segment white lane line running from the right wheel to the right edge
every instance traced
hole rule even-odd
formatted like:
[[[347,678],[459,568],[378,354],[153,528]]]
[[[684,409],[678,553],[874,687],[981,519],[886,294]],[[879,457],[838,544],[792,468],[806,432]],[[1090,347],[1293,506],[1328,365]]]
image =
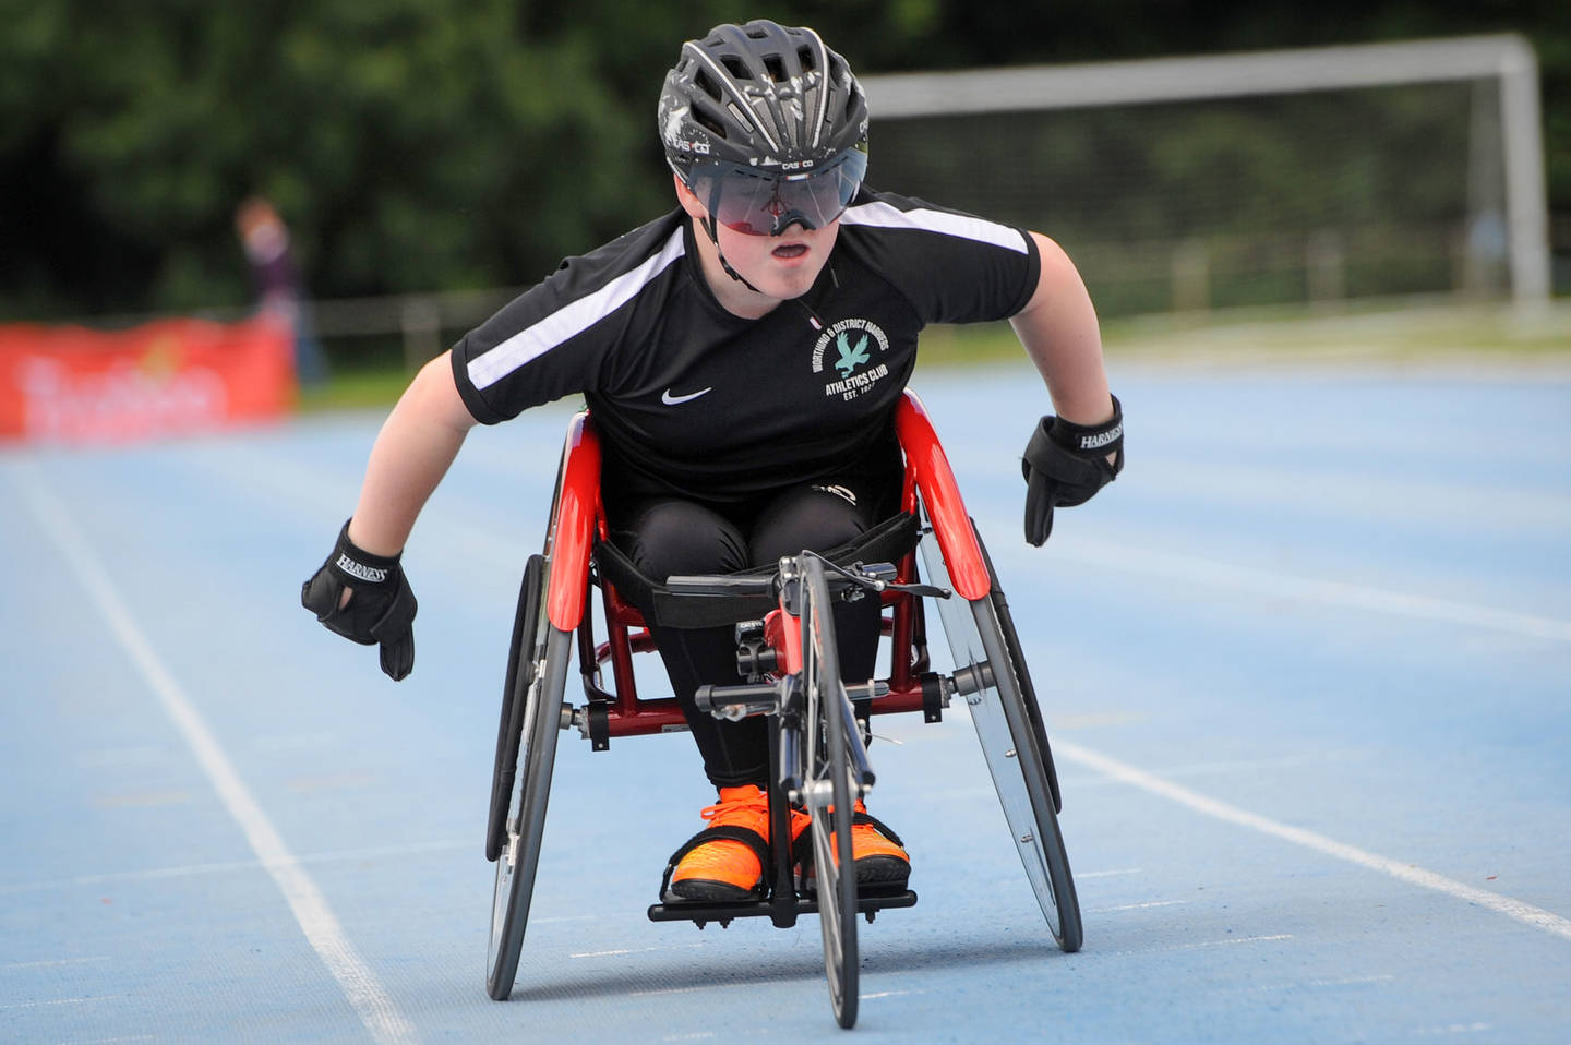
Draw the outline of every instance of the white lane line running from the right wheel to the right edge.
[[[1543,929],[1544,932],[1563,940],[1571,940],[1571,919],[1541,910],[1532,904],[1524,904],[1521,900],[1513,900],[1508,896],[1500,896],[1499,893],[1464,885],[1455,878],[1447,878],[1434,874],[1433,871],[1425,871],[1423,867],[1417,867],[1414,864],[1390,860],[1389,856],[1381,856],[1378,853],[1338,842],[1326,838],[1324,834],[1288,827],[1287,823],[1279,823],[1255,812],[1240,809],[1238,806],[1230,806],[1225,801],[1218,801],[1216,798],[1207,798],[1205,795],[1189,790],[1188,787],[1174,784],[1161,776],[1153,776],[1152,773],[1137,770],[1133,765],[1125,765],[1123,762],[1111,759],[1100,751],[1082,748],[1078,743],[1054,740],[1053,750],[1062,751],[1064,757],[1079,762],[1081,765],[1089,765],[1126,784],[1161,795],[1163,798],[1169,798],[1178,805],[1189,806],[1196,812],[1203,812],[1205,816],[1225,820],[1227,823],[1236,823],[1238,827],[1247,827],[1263,834],[1271,834],[1274,838],[1280,838],[1282,841],[1293,842],[1295,845],[1312,849],[1326,856],[1335,856],[1337,860],[1368,867],[1370,871],[1389,874],[1390,877],[1409,885],[1434,889],[1436,893],[1445,893],[1447,896],[1466,900],[1467,904],[1477,904],[1478,907],[1488,908],[1497,915],[1505,915],[1507,918],[1516,919],[1524,926]]]

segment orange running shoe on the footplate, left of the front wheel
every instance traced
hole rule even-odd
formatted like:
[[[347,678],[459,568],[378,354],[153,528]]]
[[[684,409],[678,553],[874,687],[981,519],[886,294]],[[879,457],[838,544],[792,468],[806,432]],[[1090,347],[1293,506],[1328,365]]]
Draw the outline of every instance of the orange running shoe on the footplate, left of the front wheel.
[[[754,784],[721,787],[720,801],[699,814],[709,827],[671,853],[660,897],[680,900],[753,900],[768,886],[770,798]],[[792,809],[792,838],[801,834],[807,814]]]

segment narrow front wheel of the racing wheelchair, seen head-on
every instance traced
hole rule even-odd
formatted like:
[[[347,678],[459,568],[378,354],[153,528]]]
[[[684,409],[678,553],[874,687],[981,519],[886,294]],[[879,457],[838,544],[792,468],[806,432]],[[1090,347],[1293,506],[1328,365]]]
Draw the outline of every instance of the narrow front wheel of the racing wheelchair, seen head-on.
[[[823,564],[804,556],[801,607],[801,680],[807,709],[800,746],[807,811],[812,814],[812,861],[817,878],[818,926],[829,1004],[842,1028],[856,1023],[856,871],[851,867],[851,759],[845,729],[845,685],[840,682],[834,616]],[[833,816],[831,816],[833,811]],[[836,860],[839,853],[840,860]]]

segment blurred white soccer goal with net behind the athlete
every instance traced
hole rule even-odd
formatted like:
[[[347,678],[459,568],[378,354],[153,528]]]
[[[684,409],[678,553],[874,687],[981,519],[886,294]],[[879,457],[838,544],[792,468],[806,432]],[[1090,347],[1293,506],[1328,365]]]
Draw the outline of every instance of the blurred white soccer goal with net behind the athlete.
[[[862,83],[875,185],[1054,236],[1112,311],[1551,294],[1516,35]]]

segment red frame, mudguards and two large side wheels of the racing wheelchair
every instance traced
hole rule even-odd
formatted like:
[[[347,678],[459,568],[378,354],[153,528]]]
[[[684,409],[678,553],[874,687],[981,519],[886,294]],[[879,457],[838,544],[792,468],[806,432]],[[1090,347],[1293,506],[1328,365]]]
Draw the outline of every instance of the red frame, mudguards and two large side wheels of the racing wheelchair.
[[[927,583],[952,589],[954,596],[939,602],[939,611],[955,654],[955,671],[930,669],[924,600],[911,592],[886,591],[881,596],[888,610],[883,632],[894,651],[889,676],[875,684],[875,698],[856,701],[858,715],[919,710],[927,721],[938,721],[952,696],[965,698],[1038,905],[1059,946],[1076,951],[1082,932],[1057,828],[1062,800],[1009,605],[966,514],[947,456],[914,393],[906,391],[897,404],[894,427],[905,454],[900,508],[925,523],[919,548],[902,548],[894,563],[895,581],[919,583],[921,550]],[[600,442],[589,415],[581,412],[569,424],[545,555],[534,556],[525,570],[509,655],[487,833],[487,858],[498,863],[487,962],[487,987],[496,999],[507,998],[517,971],[555,734],[577,728],[595,750],[605,750],[613,737],[687,728],[676,698],[638,696],[633,654],[654,652],[654,640],[644,613],[616,591],[605,570],[595,569],[597,541],[608,541],[600,500]],[[594,635],[591,586],[602,592],[603,641]],[[561,699],[573,646],[588,698],[580,707]],[[603,666],[610,666],[611,688],[602,685]],[[525,768],[518,768],[520,762]],[[905,896],[908,900],[888,905],[916,900],[914,894]],[[798,908],[793,902],[790,897],[775,905],[776,924],[790,924],[798,910],[815,910],[811,905]],[[869,916],[877,907],[866,908]],[[657,905],[650,918],[691,918],[701,927],[710,918],[729,921],[727,913],[694,911],[687,913],[687,905]]]

